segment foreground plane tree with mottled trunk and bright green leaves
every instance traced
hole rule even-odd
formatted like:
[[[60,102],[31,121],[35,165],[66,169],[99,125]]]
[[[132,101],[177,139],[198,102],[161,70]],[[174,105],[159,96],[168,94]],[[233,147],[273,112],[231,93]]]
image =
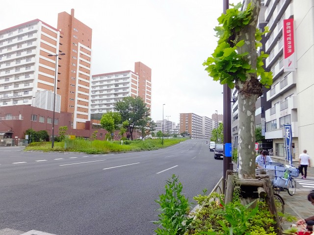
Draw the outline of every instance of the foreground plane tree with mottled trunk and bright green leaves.
[[[254,179],[255,103],[262,95],[262,86],[272,84],[272,73],[262,67],[268,55],[257,53],[262,34],[268,32],[267,28],[264,32],[257,29],[261,0],[246,3],[243,10],[239,10],[239,3],[218,18],[218,45],[203,65],[214,81],[238,90],[239,177]]]

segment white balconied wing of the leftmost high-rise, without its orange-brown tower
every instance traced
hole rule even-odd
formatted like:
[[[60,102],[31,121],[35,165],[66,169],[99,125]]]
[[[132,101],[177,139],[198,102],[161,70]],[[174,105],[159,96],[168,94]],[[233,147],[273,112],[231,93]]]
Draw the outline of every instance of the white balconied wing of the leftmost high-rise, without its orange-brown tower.
[[[39,20],[0,31],[0,106],[32,105],[37,91],[53,91],[55,57],[48,54],[59,44],[60,32]]]

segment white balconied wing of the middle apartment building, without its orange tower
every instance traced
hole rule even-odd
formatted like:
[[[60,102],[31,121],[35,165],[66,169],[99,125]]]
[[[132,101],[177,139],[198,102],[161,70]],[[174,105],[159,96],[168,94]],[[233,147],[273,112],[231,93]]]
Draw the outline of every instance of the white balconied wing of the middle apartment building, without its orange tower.
[[[138,95],[138,75],[132,71],[103,73],[92,76],[91,114],[114,112],[114,104],[126,96]]]

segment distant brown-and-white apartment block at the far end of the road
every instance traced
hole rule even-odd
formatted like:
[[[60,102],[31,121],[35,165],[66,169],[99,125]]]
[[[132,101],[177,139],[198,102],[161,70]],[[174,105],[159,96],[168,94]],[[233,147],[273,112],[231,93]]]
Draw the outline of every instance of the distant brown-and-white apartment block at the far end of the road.
[[[205,128],[208,129],[210,125],[208,118],[206,118]],[[193,113],[180,114],[180,133],[187,132],[192,139],[207,139],[203,134],[203,117]]]

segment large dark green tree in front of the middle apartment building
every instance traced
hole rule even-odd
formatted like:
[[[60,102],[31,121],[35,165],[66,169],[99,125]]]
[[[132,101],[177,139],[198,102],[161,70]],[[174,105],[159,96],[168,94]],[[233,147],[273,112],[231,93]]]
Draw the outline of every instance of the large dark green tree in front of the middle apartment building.
[[[114,104],[114,108],[120,113],[123,121],[129,121],[126,126],[127,138],[133,140],[134,127],[139,126],[141,120],[149,116],[150,109],[146,107],[143,99],[139,96],[124,97],[121,101]]]

